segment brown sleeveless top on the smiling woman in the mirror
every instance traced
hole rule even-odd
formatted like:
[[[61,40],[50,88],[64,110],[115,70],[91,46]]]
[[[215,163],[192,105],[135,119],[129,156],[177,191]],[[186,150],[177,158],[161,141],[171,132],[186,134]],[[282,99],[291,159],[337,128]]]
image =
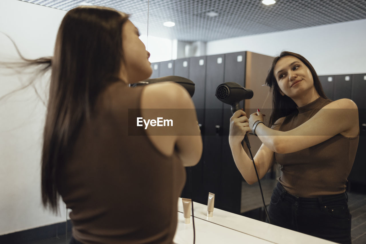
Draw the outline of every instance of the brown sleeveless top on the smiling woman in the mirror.
[[[281,125],[272,128],[280,131],[294,129],[330,102],[319,97],[310,104],[298,107]],[[344,192],[355,160],[358,139],[359,136],[347,138],[338,134],[294,153],[275,153],[276,161],[282,166],[279,182],[290,194],[304,198]]]

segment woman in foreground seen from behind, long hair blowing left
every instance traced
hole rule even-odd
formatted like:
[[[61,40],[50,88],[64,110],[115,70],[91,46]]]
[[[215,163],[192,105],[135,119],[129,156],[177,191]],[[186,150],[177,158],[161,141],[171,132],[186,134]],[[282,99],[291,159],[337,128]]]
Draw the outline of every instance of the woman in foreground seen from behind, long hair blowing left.
[[[64,16],[54,56],[27,60],[52,68],[42,202],[57,212],[61,196],[72,210],[71,243],[172,243],[202,140],[182,86],[129,86],[152,74],[149,56],[127,14],[81,6]],[[174,126],[137,126],[152,117]]]

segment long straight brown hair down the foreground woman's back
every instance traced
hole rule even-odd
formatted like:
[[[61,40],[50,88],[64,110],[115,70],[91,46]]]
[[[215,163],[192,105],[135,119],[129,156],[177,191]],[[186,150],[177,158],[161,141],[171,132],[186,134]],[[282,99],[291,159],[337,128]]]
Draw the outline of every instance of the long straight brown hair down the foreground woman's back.
[[[59,27],[44,127],[42,203],[57,212],[59,169],[88,120],[98,94],[119,81],[123,64],[122,26],[128,15],[111,8],[81,6]]]

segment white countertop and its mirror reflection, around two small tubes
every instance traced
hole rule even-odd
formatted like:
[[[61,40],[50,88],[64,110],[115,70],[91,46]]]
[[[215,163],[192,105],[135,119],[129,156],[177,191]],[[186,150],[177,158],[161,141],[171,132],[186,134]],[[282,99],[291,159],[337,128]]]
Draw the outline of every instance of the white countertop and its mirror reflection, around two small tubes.
[[[330,244],[331,241],[214,208],[207,217],[207,205],[193,202],[196,243]],[[213,242],[209,242],[212,240]],[[193,243],[192,217],[184,224],[182,198],[178,200],[177,244]]]

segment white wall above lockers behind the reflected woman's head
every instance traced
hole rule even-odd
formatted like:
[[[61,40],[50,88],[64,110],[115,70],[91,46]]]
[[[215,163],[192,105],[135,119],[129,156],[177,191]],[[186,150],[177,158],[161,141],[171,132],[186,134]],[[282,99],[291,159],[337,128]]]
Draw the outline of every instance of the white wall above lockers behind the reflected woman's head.
[[[210,41],[207,55],[251,51],[299,53],[318,75],[366,73],[366,20]]]

